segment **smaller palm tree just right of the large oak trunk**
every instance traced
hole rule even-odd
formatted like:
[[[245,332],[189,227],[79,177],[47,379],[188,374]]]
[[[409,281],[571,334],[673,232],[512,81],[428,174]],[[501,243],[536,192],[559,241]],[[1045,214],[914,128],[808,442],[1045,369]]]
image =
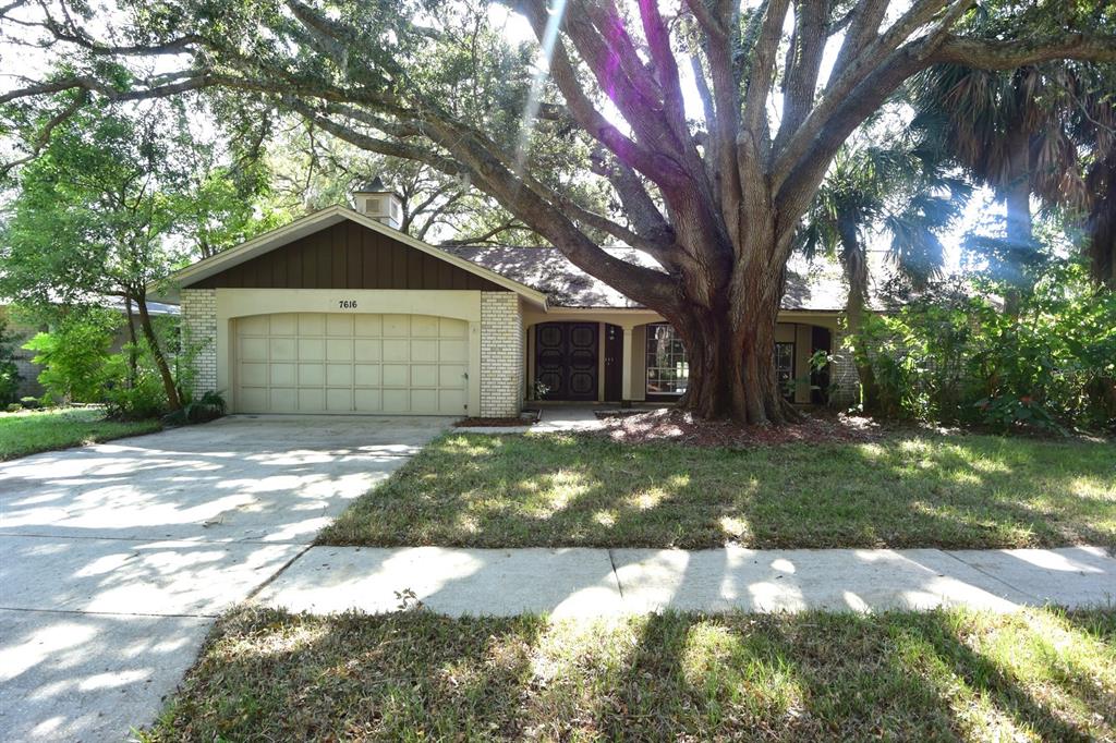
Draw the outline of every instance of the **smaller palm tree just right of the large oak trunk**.
[[[846,326],[864,329],[870,282],[868,244],[876,231],[891,235],[887,255],[914,288],[941,272],[944,248],[937,232],[963,211],[971,187],[949,176],[925,143],[899,139],[887,148],[848,145],[838,153],[797,234],[807,258],[836,259],[848,284]],[[858,355],[865,409],[878,398],[872,367]]]

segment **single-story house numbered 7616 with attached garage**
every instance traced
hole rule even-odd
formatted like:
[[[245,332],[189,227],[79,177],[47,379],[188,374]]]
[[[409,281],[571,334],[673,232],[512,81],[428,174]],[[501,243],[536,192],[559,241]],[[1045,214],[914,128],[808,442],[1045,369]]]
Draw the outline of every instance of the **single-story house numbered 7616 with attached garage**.
[[[617,403],[685,390],[673,328],[558,251],[435,248],[396,229],[398,199],[378,184],[355,202],[172,277],[158,298],[181,302],[183,331],[202,347],[199,392],[222,390],[238,413],[501,417],[543,390]],[[776,364],[796,403],[826,386],[810,384],[808,361],[840,347],[843,306],[839,279],[789,281]],[[845,356],[830,374],[852,390]]]

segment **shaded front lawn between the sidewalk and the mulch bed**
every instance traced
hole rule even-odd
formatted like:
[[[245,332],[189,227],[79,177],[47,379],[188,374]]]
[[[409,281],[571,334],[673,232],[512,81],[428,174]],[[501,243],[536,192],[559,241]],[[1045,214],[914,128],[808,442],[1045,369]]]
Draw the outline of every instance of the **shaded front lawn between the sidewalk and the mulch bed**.
[[[448,434],[319,535],[462,547],[1116,544],[1116,445],[896,435],[733,451]]]

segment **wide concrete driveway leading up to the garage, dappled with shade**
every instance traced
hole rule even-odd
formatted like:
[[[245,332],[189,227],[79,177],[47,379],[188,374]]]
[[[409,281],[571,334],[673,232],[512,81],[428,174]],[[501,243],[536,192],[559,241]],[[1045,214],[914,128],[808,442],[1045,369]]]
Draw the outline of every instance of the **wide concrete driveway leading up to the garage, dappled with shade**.
[[[0,463],[0,740],[115,741],[449,418],[231,416]]]

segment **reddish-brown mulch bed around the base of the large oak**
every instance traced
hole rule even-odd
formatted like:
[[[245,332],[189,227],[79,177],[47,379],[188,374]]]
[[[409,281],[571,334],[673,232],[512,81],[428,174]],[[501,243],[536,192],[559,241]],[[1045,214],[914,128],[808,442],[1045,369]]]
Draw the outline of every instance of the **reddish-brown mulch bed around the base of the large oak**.
[[[815,413],[785,426],[744,426],[731,421],[699,421],[671,408],[625,413],[605,418],[589,435],[626,444],[674,442],[694,446],[772,446],[779,444],[862,443],[877,441],[886,431],[872,418]]]

